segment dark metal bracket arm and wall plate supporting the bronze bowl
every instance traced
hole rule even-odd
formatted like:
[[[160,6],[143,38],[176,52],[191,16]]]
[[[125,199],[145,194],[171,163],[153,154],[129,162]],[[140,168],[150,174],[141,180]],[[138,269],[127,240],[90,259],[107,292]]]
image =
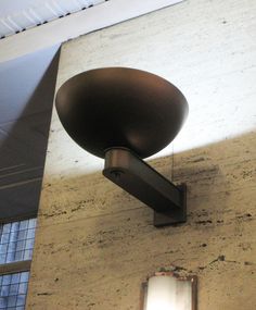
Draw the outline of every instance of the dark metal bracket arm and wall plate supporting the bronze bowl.
[[[156,227],[187,221],[185,185],[174,185],[130,150],[106,150],[103,175],[154,209]]]

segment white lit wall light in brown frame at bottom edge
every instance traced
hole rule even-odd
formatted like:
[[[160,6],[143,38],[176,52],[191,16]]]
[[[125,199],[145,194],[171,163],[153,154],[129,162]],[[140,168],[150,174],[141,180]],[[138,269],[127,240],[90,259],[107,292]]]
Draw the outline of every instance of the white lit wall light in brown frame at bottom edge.
[[[158,272],[142,284],[141,310],[196,310],[196,276]]]

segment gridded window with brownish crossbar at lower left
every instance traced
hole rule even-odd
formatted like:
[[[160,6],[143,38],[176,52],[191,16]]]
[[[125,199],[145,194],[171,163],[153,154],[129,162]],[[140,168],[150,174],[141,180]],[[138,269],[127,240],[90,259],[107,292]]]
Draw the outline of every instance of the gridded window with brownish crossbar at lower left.
[[[0,310],[24,310],[36,219],[0,224]]]

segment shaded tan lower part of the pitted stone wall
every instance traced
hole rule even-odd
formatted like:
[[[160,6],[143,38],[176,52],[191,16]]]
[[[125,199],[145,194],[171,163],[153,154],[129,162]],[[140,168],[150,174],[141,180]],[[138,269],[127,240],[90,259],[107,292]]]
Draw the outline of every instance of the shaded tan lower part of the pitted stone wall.
[[[136,309],[146,275],[175,265],[178,273],[200,275],[200,309],[253,309],[255,139],[248,133],[177,153],[174,171],[170,157],[150,161],[188,185],[188,222],[175,227],[155,228],[152,210],[100,172],[46,183],[33,305]],[[245,281],[248,289],[241,296]]]

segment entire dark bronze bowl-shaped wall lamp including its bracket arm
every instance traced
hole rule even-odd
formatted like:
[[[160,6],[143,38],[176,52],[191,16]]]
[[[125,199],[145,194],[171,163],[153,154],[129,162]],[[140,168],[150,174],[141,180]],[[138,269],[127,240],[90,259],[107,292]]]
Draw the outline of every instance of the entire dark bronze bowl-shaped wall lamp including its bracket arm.
[[[180,131],[189,108],[178,88],[140,70],[97,69],[64,83],[56,110],[69,136],[105,159],[104,176],[154,209],[155,226],[185,222],[185,186],[142,160]]]

